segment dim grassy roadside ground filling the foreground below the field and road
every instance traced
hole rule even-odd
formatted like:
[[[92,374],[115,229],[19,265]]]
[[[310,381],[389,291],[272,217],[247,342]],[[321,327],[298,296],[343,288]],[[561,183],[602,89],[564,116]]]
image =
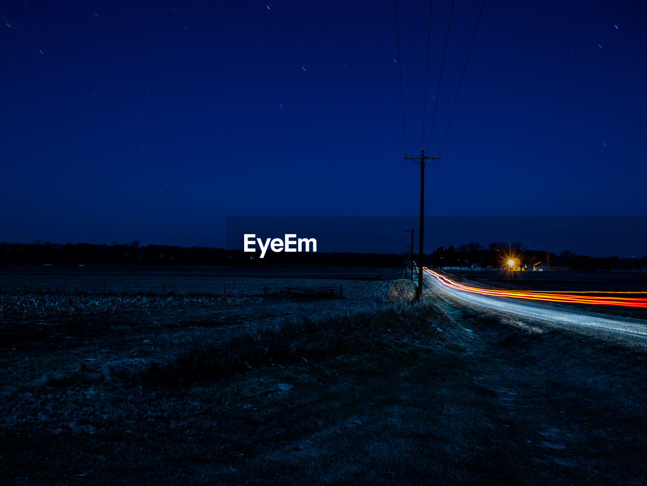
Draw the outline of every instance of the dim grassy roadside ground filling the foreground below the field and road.
[[[433,305],[3,397],[8,484],[639,484],[644,351]]]

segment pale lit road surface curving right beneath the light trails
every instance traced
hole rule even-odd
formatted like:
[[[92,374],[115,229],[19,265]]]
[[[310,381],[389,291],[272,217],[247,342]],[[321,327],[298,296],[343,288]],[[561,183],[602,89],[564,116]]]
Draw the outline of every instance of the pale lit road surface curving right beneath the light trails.
[[[647,344],[647,322],[642,320],[560,309],[547,304],[535,304],[523,300],[454,289],[428,271],[424,272],[424,281],[435,293],[451,296],[469,304],[515,314],[531,320],[593,331]]]

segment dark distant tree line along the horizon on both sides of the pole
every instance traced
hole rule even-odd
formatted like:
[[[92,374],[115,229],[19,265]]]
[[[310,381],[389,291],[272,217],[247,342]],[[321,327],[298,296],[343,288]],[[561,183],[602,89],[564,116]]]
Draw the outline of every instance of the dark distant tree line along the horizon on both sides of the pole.
[[[0,265],[345,265],[362,267],[398,267],[406,262],[406,254],[378,253],[245,253],[209,247],[177,247],[140,245],[139,241],[109,245],[67,243],[0,243]],[[543,262],[559,269],[578,271],[647,269],[647,256],[642,258],[598,258],[576,255],[570,250],[560,254],[530,250],[523,243],[492,242],[484,246],[471,242],[455,248],[438,247],[424,258],[425,265],[436,267],[504,267],[509,258],[521,266]],[[414,260],[417,260],[417,254]]]

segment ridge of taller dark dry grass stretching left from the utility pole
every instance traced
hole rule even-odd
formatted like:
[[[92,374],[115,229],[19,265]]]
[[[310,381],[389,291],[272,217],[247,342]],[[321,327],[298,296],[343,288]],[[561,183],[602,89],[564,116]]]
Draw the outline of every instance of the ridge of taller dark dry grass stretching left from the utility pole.
[[[441,327],[443,329],[441,329]],[[184,384],[214,380],[259,366],[376,353],[397,344],[438,348],[461,344],[465,332],[434,305],[391,305],[334,313],[255,329],[225,342],[200,343],[170,363],[154,363],[146,381]]]

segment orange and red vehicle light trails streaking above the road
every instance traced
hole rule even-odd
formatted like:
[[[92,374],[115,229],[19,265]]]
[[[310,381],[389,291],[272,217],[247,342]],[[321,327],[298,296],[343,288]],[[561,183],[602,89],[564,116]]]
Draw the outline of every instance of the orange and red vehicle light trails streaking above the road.
[[[474,294],[488,295],[493,297],[508,297],[525,300],[542,300],[544,302],[565,302],[566,304],[594,304],[594,305],[616,305],[619,307],[640,307],[647,309],[647,298],[638,297],[615,297],[615,296],[594,296],[594,295],[571,295],[566,293],[556,293],[554,291],[511,291],[498,289],[481,289],[479,287],[470,287],[463,283],[454,282],[444,275],[441,275],[427,267],[422,267],[433,278],[438,280],[446,287],[452,289],[470,292]],[[595,293],[595,292],[591,292]],[[598,292],[601,293],[601,292]],[[582,294],[582,292],[578,292]],[[643,293],[644,294],[644,293]]]

